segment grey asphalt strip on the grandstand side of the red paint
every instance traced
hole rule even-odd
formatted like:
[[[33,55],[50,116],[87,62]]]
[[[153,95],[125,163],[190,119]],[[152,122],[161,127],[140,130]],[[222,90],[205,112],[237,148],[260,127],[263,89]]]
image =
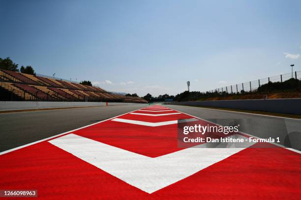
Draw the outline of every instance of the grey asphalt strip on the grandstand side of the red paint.
[[[145,106],[117,105],[0,114],[0,152]]]

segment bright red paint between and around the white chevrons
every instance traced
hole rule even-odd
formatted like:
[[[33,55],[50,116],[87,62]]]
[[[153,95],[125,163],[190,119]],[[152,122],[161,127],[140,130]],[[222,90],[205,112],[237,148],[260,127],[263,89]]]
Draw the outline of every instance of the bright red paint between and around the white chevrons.
[[[192,117],[129,113],[117,118],[157,123]],[[181,150],[177,124],[152,127],[108,120],[72,133],[153,158]],[[0,155],[0,180],[0,189],[37,189],[38,199],[297,200],[301,155],[283,148],[248,148],[149,194],[44,141]]]

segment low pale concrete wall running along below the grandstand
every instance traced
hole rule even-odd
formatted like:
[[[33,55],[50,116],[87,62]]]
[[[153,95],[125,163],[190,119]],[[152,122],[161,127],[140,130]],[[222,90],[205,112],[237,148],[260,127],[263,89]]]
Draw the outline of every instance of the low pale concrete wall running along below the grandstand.
[[[134,104],[138,104],[138,103],[118,103],[118,102],[108,103],[108,105],[134,105]],[[78,107],[78,106],[99,106],[99,105],[106,105],[106,102],[0,101],[0,111],[40,109],[40,108],[63,108],[63,107]]]

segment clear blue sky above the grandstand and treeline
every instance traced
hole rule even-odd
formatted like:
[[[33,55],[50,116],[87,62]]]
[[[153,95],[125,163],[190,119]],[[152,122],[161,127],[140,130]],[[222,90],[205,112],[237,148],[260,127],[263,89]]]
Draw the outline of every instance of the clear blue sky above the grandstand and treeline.
[[[301,70],[300,0],[0,0],[0,57],[154,96]]]

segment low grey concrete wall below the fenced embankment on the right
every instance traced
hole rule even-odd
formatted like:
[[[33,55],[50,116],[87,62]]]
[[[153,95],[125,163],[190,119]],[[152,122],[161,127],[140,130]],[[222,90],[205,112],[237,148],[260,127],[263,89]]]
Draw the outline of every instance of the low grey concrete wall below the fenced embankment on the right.
[[[260,110],[276,113],[301,114],[301,99],[271,99],[271,100],[204,100],[167,102],[174,105],[199,105],[241,110]]]

